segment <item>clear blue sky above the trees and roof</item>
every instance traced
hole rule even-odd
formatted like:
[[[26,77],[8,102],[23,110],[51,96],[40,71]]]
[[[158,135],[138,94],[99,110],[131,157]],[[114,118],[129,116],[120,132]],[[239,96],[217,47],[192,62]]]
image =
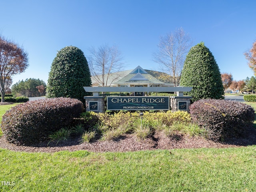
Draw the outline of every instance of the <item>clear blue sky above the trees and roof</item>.
[[[0,34],[23,46],[30,66],[13,83],[39,78],[47,83],[57,51],[115,44],[125,70],[152,60],[160,36],[182,27],[193,46],[204,42],[220,68],[234,80],[253,76],[243,53],[256,40],[255,0],[0,0]]]

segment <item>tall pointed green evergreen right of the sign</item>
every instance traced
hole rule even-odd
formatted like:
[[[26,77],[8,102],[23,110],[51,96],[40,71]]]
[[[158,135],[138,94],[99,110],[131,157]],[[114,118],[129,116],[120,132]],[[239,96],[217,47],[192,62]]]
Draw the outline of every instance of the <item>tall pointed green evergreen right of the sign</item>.
[[[212,52],[203,42],[192,47],[186,56],[180,85],[193,87],[192,102],[200,99],[223,99],[224,88],[220,69]]]

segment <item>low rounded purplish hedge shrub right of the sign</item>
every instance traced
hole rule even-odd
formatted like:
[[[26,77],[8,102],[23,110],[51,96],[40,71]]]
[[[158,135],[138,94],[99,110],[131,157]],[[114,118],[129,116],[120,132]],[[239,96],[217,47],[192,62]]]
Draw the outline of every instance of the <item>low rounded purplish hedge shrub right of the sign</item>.
[[[205,128],[214,141],[241,136],[254,121],[251,106],[232,100],[198,100],[190,105],[190,114],[192,122]]]

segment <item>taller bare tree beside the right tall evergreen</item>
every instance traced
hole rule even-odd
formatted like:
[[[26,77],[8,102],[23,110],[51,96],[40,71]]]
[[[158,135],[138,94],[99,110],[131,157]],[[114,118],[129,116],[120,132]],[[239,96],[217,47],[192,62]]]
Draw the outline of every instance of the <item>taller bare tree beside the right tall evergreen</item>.
[[[162,70],[172,76],[174,86],[179,86],[180,75],[190,47],[191,38],[182,28],[160,37],[158,50],[153,52],[153,60],[162,65]]]

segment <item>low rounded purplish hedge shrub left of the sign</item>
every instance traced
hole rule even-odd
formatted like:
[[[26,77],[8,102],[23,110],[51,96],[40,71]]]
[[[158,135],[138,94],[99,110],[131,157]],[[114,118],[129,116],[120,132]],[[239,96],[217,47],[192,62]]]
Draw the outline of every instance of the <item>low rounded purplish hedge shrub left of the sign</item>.
[[[50,132],[67,127],[83,111],[77,99],[51,98],[18,104],[2,117],[2,132],[9,142],[17,145],[38,144]]]

